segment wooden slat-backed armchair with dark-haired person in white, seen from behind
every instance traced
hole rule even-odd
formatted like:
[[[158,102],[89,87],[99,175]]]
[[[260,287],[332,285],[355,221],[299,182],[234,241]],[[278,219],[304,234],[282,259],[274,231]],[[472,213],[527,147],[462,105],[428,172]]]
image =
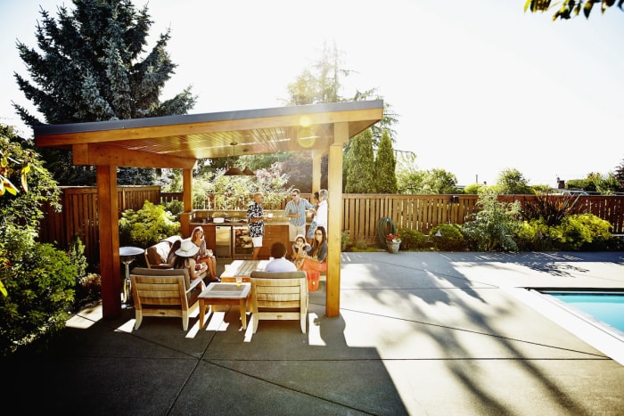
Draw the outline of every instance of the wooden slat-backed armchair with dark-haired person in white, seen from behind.
[[[251,272],[251,319],[253,332],[260,320],[299,320],[306,333],[308,279],[306,272]]]

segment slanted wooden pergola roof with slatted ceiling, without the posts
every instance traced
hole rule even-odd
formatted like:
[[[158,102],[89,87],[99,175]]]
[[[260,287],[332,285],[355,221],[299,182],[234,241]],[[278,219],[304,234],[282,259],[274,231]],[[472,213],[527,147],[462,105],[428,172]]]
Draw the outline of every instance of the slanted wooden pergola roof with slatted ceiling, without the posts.
[[[273,153],[325,152],[333,124],[349,138],[381,120],[383,101],[238,110],[35,127],[40,147],[73,151],[76,165],[193,167],[197,159]]]

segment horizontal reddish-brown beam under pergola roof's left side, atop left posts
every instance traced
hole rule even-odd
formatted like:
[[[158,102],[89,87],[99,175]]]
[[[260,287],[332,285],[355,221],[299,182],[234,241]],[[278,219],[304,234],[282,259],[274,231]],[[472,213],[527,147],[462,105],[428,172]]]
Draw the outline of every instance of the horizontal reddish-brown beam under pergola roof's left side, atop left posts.
[[[121,167],[170,167],[174,169],[193,168],[194,158],[180,158],[150,151],[135,151],[105,144],[74,144],[72,146],[74,165],[114,165]]]

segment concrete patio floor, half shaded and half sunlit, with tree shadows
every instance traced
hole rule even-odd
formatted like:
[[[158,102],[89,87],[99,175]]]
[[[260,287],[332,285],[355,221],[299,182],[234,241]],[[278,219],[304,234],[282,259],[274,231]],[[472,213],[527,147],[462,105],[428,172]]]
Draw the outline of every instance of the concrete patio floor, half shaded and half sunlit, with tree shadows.
[[[342,253],[341,264],[341,316],[324,317],[322,286],[307,334],[296,321],[242,330],[238,306],[205,329],[195,314],[186,332],[176,318],[134,330],[132,309],[115,320],[83,311],[44,354],[3,360],[4,408],[624,414],[624,340],[593,347],[598,336],[565,329],[576,318],[518,289],[624,288],[624,253]]]

